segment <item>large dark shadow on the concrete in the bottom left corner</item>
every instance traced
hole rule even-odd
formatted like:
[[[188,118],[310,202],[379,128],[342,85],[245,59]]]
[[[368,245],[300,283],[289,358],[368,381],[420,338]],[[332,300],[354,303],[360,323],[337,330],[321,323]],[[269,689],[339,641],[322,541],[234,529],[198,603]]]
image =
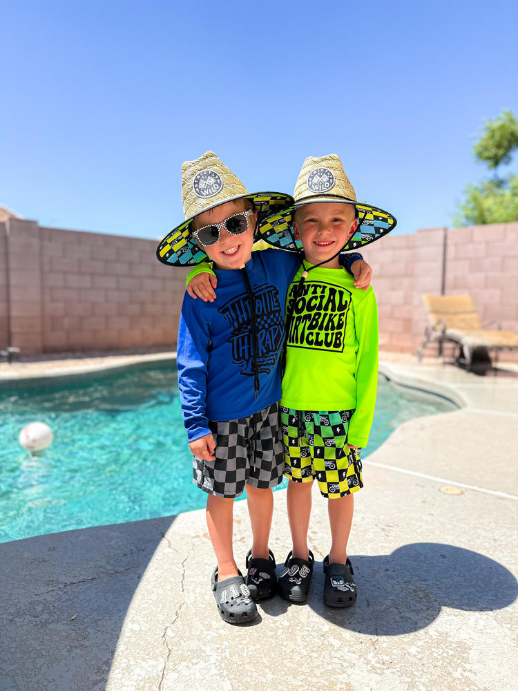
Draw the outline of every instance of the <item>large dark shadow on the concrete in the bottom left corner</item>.
[[[0,544],[0,690],[104,691],[133,594],[174,520]]]

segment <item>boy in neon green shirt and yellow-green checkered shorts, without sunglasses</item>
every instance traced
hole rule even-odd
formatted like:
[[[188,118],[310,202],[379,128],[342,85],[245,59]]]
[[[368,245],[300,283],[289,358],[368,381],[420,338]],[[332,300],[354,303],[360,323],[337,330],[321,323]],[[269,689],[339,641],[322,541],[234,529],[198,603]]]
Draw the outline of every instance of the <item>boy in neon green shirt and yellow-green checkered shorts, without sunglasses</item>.
[[[295,603],[307,600],[314,566],[307,532],[316,479],[329,500],[332,535],[324,560],[324,602],[348,607],[356,601],[356,585],[347,540],[353,493],[363,487],[360,451],[376,403],[378,314],[372,287],[355,288],[354,279],[337,270],[338,254],[345,245],[356,248],[380,238],[396,220],[356,203],[336,155],[305,161],[294,198],[295,206],[265,220],[261,231],[271,245],[293,250],[301,242],[305,252],[287,293],[280,410],[293,547],[278,593]]]

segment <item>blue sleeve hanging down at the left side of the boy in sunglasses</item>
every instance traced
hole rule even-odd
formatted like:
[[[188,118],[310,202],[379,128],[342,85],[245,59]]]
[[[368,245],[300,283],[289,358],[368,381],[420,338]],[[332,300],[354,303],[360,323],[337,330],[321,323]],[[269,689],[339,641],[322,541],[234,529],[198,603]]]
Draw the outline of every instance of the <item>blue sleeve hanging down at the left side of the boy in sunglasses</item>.
[[[203,303],[196,303],[185,294],[178,326],[176,363],[182,417],[189,442],[211,433],[205,413],[209,341],[209,320]]]

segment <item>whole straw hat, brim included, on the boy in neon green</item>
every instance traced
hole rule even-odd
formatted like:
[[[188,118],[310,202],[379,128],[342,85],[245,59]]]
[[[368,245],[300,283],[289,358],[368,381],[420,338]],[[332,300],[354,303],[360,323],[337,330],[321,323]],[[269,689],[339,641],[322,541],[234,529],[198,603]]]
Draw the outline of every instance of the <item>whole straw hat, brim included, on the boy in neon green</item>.
[[[332,153],[321,158],[310,156],[303,164],[294,191],[295,203],[266,218],[260,226],[260,238],[274,247],[298,252],[302,243],[296,240],[293,217],[296,209],[317,202],[352,204],[358,211],[358,227],[345,245],[356,249],[374,243],[396,227],[396,218],[366,202],[357,202],[354,187],[345,175],[340,158]]]

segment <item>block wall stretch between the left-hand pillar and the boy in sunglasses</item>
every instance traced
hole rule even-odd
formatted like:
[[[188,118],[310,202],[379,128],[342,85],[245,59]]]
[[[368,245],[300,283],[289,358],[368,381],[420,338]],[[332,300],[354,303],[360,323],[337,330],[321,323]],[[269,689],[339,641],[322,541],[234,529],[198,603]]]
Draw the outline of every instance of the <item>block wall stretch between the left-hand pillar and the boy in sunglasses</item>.
[[[186,271],[155,240],[41,228],[44,352],[176,343]]]

